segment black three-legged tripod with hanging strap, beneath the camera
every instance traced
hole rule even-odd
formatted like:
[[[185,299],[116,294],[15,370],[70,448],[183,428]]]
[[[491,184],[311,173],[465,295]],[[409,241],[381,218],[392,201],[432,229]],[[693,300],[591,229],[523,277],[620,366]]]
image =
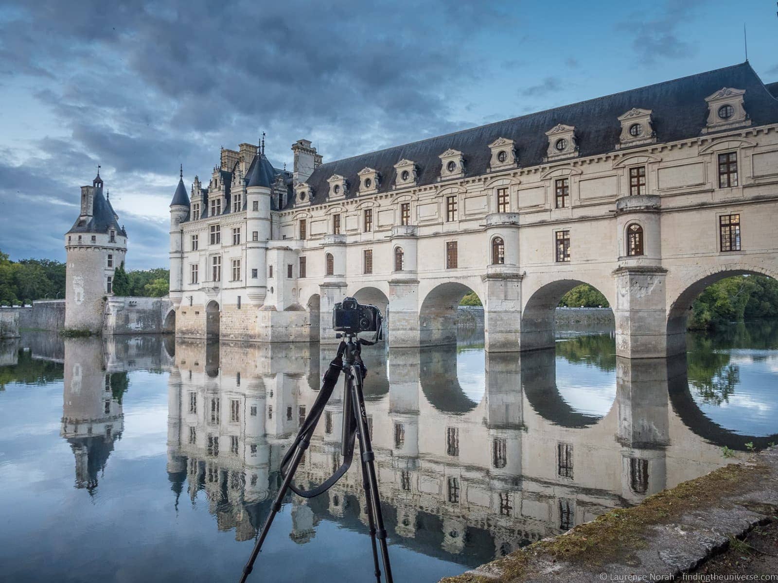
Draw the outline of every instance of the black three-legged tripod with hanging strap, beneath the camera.
[[[340,337],[340,335],[338,335],[338,337]],[[349,466],[351,466],[352,457],[354,455],[355,435],[359,437],[359,454],[362,463],[362,487],[365,490],[367,501],[367,518],[370,523],[370,545],[373,547],[374,574],[377,583],[380,583],[381,571],[378,562],[378,547],[380,546],[381,560],[384,564],[386,581],[387,583],[393,583],[391,565],[389,564],[389,550],[387,549],[387,532],[386,529],[384,529],[384,516],[381,514],[380,497],[378,494],[378,479],[376,467],[373,463],[375,456],[373,455],[373,448],[370,445],[370,431],[368,431],[367,428],[365,397],[363,394],[363,379],[367,373],[367,368],[365,367],[361,356],[363,344],[370,345],[375,343],[358,338],[356,333],[345,335],[345,340],[341,340],[341,343],[338,346],[337,356],[330,362],[327,372],[324,373],[321,391],[316,397],[314,405],[310,409],[310,413],[305,418],[305,421],[303,421],[300,431],[297,432],[293,445],[282,459],[281,475],[283,481],[281,487],[279,488],[278,494],[275,496],[275,501],[273,501],[270,514],[265,520],[265,525],[262,526],[257,543],[254,544],[254,549],[251,551],[251,557],[249,557],[249,560],[244,567],[240,583],[245,583],[248,575],[251,574],[251,571],[254,569],[254,561],[257,560],[257,556],[262,548],[262,543],[265,542],[265,537],[268,536],[275,515],[281,510],[281,503],[286,496],[287,490],[291,489],[293,492],[303,497],[314,497],[329,490],[329,488],[332,487],[347,470],[349,470]],[[328,480],[324,481],[323,484],[315,487],[313,490],[302,490],[294,486],[292,480],[297,470],[297,466],[300,465],[300,461],[303,459],[305,450],[308,449],[308,446],[310,445],[310,438],[314,435],[319,418],[324,412],[324,406],[330,399],[332,390],[335,389],[335,383],[338,382],[338,377],[341,372],[345,374],[345,390],[343,392],[343,433],[341,439],[343,463],[338,470],[335,470],[335,473],[333,473]]]

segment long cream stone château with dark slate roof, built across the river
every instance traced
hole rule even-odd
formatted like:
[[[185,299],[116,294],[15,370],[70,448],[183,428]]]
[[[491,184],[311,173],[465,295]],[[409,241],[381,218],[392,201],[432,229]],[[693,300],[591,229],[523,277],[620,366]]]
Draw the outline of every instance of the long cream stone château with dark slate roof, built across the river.
[[[354,295],[444,344],[473,291],[489,351],[535,349],[587,283],[620,355],[682,352],[707,285],[778,274],[776,96],[744,63],[335,162],[300,140],[291,173],[223,149],[170,205],[176,333],[335,342]]]

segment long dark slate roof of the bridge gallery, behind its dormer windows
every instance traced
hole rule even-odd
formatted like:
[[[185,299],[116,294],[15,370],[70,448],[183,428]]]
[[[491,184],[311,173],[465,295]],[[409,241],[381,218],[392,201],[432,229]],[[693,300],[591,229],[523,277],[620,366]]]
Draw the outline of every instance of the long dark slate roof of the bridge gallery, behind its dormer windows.
[[[771,84],[773,91],[778,84]],[[486,173],[491,159],[488,145],[497,138],[514,141],[520,167],[537,166],[544,162],[548,151],[545,132],[557,124],[575,126],[576,143],[580,157],[604,154],[615,150],[621,134],[617,117],[633,107],[652,110],[652,125],[657,141],[675,141],[694,138],[706,125],[707,96],[722,87],[745,89],[745,110],[752,124],[778,122],[778,100],[756,75],[748,62],[714,71],[699,73],[682,79],[630,89],[622,93],[589,99],[580,103],[556,107],[552,110],[530,113],[510,120],[498,121],[453,134],[415,141],[377,152],[322,164],[306,180],[313,196],[305,202],[288,206],[304,207],[322,204],[328,199],[327,179],[333,174],[345,176],[349,190],[346,197],[355,197],[359,186],[357,173],[365,168],[376,169],[380,175],[378,192],[392,190],[396,170],[401,159],[412,160],[419,167],[417,184],[436,183],[440,176],[438,156],[448,148],[464,155],[465,177]]]

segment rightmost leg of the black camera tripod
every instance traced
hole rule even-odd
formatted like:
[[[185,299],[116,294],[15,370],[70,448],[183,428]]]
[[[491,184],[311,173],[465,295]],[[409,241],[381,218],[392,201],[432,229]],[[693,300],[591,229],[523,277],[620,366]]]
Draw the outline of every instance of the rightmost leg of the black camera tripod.
[[[353,391],[352,404],[354,406],[354,416],[356,417],[357,432],[359,433],[359,454],[362,457],[363,480],[367,483],[367,490],[370,490],[367,504],[369,508],[373,509],[373,516],[375,517],[376,524],[376,538],[380,544],[381,559],[384,562],[384,574],[386,574],[387,583],[394,583],[391,576],[391,564],[389,564],[387,531],[384,528],[384,515],[381,512],[380,494],[378,492],[378,478],[374,463],[375,455],[373,454],[373,446],[370,444],[370,431],[368,431],[367,427],[365,397],[362,391],[362,371],[358,367],[352,365],[349,367],[348,376],[352,379],[352,382],[350,382]]]

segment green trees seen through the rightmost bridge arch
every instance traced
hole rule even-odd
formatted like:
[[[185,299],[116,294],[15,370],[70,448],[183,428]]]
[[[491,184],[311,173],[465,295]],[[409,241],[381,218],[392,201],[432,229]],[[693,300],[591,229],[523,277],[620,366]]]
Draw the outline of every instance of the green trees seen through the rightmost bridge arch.
[[[710,285],[692,304],[689,330],[778,316],[778,281],[765,275],[738,275]]]

